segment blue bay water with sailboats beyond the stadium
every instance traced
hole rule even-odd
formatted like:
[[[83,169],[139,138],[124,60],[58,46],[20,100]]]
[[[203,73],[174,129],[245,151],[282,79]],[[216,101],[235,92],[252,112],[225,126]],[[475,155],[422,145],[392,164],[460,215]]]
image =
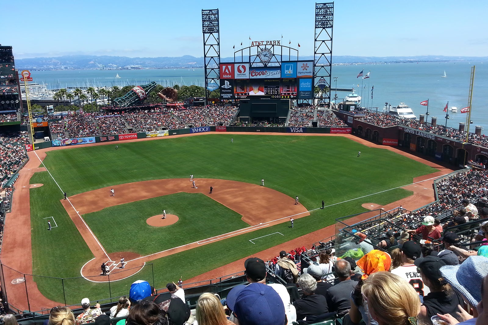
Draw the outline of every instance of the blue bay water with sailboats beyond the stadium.
[[[427,107],[420,102],[429,100],[430,122],[432,116],[437,123],[445,125],[444,107],[448,103],[448,127],[459,127],[459,122],[466,122],[467,114],[460,113],[468,106],[469,81],[471,66],[475,65],[475,77],[472,97],[470,131],[474,125],[488,128],[488,107],[485,98],[488,89],[488,62],[410,62],[333,65],[332,77],[337,77],[337,88],[353,88],[363,97],[364,107],[378,107],[383,110],[385,102],[392,106],[404,102],[417,116],[425,114]],[[370,72],[370,78],[356,78],[359,72]],[[442,75],[446,71],[446,78]],[[163,86],[192,85],[204,86],[203,68],[195,69],[140,69],[140,70],[48,70],[31,71],[36,83],[46,83],[48,89],[66,87],[141,85],[156,81]],[[121,78],[115,78],[116,75]],[[371,99],[371,88],[373,98]],[[336,87],[332,79],[332,88]],[[350,92],[337,92],[338,101]],[[331,92],[334,97],[335,91]],[[451,106],[458,108],[457,113],[450,111]],[[482,131],[482,134],[485,132]]]

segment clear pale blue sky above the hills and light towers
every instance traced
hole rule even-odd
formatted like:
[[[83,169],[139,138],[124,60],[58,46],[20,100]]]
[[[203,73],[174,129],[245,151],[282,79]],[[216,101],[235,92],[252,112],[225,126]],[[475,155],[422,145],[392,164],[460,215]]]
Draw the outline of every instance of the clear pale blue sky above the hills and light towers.
[[[313,55],[315,1],[2,1],[2,45],[18,59],[88,54],[203,56],[202,9],[219,8],[221,57],[258,40]],[[333,55],[487,56],[488,1],[334,3]],[[11,12],[12,14],[5,15]],[[7,19],[8,17],[8,19]],[[21,18],[27,23],[21,23]],[[5,20],[7,19],[7,20]],[[13,19],[9,21],[9,19]]]

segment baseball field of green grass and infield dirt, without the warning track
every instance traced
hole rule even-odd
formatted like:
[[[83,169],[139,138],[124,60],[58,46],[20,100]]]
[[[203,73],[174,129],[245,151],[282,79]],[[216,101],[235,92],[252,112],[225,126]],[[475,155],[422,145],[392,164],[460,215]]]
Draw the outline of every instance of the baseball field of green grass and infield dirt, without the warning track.
[[[31,187],[42,184],[30,189],[33,274],[43,276],[33,280],[41,293],[76,304],[88,295],[127,294],[139,279],[153,284],[154,277],[154,286],[164,287],[364,212],[363,203],[405,198],[411,192],[399,187],[437,171],[346,137],[232,137],[48,151],[40,163],[47,171],[30,179]],[[110,288],[101,262],[110,262]]]

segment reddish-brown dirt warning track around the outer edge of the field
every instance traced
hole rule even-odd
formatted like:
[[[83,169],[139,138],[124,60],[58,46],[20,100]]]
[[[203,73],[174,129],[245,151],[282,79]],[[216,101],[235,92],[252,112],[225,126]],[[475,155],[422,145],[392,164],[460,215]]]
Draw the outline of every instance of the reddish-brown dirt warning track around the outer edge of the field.
[[[139,141],[150,141],[150,140],[159,140],[164,141],[168,138],[174,137],[188,137],[188,136],[195,136],[195,135],[205,135],[205,134],[222,134],[221,132],[207,132],[207,133],[199,133],[199,134],[187,134],[187,135],[178,135],[178,136],[171,136],[171,137],[163,137],[163,138],[150,138],[150,139],[137,139],[137,140],[128,140],[125,142],[139,142]],[[253,132],[237,132],[237,133],[226,133],[228,135],[231,134],[257,134]],[[383,148],[386,150],[391,150],[396,152],[400,155],[406,156],[409,159],[413,159],[415,161],[425,163],[428,166],[434,167],[439,169],[440,171],[437,173],[433,173],[430,175],[425,175],[422,177],[418,177],[414,179],[414,183],[421,182],[413,185],[408,185],[404,187],[407,190],[411,190],[414,194],[408,198],[400,200],[398,202],[393,202],[383,206],[386,210],[390,208],[397,207],[399,205],[403,205],[404,208],[408,210],[413,210],[419,208],[427,203],[434,201],[434,194],[432,189],[433,180],[431,178],[440,177],[442,175],[448,174],[452,172],[451,169],[446,168],[438,163],[429,162],[424,160],[420,157],[414,156],[409,152],[402,151],[395,147],[390,146],[383,146],[377,145],[371,142],[366,141],[365,139],[358,138],[353,135],[342,135],[342,134],[293,134],[293,133],[259,133],[260,135],[287,135],[287,136],[328,136],[328,137],[346,137],[352,141],[364,144],[368,147],[374,148]],[[121,144],[124,142],[117,142],[117,144]],[[96,146],[96,145],[114,145],[113,142],[108,143],[92,143],[86,144],[83,146]],[[45,168],[39,167],[39,159],[43,160],[46,156],[47,151],[51,150],[69,150],[76,146],[69,146],[69,147],[51,147],[41,150],[31,151],[28,153],[29,155],[29,162],[25,164],[20,172],[20,176],[16,181],[16,190],[14,191],[13,195],[13,209],[12,212],[7,214],[7,218],[5,220],[4,225],[4,234],[3,234],[3,241],[2,241],[2,251],[1,251],[1,260],[4,265],[7,265],[15,270],[18,270],[22,273],[32,274],[32,241],[31,241],[31,223],[30,223],[30,195],[29,195],[29,180],[31,176],[38,171],[45,171]],[[37,155],[36,155],[37,154]],[[188,182],[189,183],[189,182]],[[197,183],[197,186],[199,184]],[[116,193],[118,194],[118,193]],[[60,198],[62,197],[62,193],[60,191]],[[381,207],[381,206],[380,206]],[[361,216],[361,219],[364,219],[364,215]],[[356,220],[351,220],[351,222],[355,222]],[[360,220],[357,220],[360,221]],[[298,246],[310,246],[312,243],[317,242],[319,240],[323,240],[335,232],[335,226],[330,225],[323,229],[314,231],[309,233],[305,236],[296,238],[292,241],[280,244],[275,247],[271,247],[266,249],[260,253],[254,254],[254,256],[261,257],[262,259],[269,259],[273,256],[276,256],[278,252],[282,249],[288,250]],[[110,255],[110,254],[109,254]],[[21,257],[21,258],[20,258]],[[125,257],[125,256],[124,256]],[[248,256],[249,257],[249,256]],[[235,261],[230,264],[226,264],[222,267],[214,269],[212,271],[203,273],[198,277],[194,277],[192,279],[183,279],[185,283],[191,283],[196,281],[208,280],[218,278],[225,274],[231,274],[234,272],[239,272],[244,269],[244,261],[248,257],[245,257],[241,260]],[[116,259],[116,256],[112,259]],[[5,293],[9,297],[9,304],[14,305],[15,307],[19,308],[20,310],[30,309],[30,310],[41,310],[42,308],[51,308],[55,305],[60,305],[62,303],[53,302],[45,298],[37,285],[33,281],[28,281],[26,284],[12,284],[11,281],[19,278],[22,274],[16,272],[8,267],[3,268],[4,272],[4,280],[5,280]],[[172,279],[168,279],[170,281]],[[19,287],[22,286],[22,288]],[[29,303],[27,303],[27,297],[25,295],[25,290],[23,289],[24,285],[26,285],[28,292],[29,292]]]

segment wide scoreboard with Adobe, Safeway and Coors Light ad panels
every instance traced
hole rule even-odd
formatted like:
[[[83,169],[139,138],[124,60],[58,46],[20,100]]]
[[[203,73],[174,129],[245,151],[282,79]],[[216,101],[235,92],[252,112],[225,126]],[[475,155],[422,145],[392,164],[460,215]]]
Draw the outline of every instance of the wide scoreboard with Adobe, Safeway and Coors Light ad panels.
[[[313,61],[286,61],[280,66],[220,64],[220,99],[312,99]]]

